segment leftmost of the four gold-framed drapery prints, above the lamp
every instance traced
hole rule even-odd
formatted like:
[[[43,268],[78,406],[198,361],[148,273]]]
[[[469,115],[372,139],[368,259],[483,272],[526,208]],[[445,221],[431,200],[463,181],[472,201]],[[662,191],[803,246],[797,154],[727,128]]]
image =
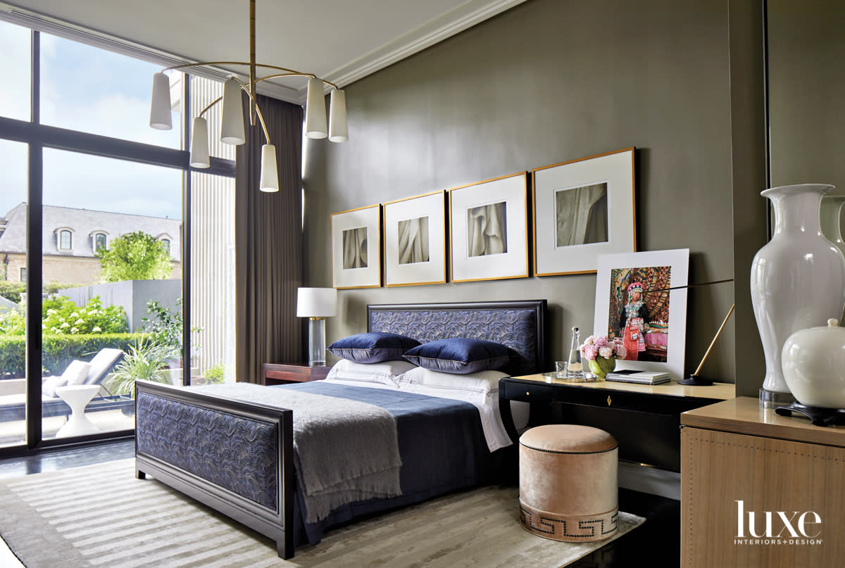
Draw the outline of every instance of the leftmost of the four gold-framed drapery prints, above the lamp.
[[[331,285],[381,286],[381,205],[331,214]]]

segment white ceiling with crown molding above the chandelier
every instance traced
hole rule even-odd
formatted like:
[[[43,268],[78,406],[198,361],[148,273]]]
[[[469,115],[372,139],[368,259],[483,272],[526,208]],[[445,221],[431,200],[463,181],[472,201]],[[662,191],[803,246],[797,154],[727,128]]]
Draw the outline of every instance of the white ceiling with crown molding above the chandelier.
[[[258,0],[256,60],[313,73],[342,88],[522,2]],[[0,0],[0,13],[35,29],[82,35],[135,55],[143,47],[192,63],[249,60],[248,0]],[[304,85],[304,79],[288,79],[263,90],[302,102]]]

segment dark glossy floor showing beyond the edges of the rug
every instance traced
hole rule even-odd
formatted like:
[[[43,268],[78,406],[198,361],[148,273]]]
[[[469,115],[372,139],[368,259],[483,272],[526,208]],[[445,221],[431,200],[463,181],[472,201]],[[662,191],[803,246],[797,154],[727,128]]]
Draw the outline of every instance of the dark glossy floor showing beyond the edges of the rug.
[[[44,451],[33,456],[0,460],[0,478],[51,472],[134,456],[134,440]],[[645,516],[641,527],[617,538],[572,564],[573,568],[630,568],[649,565],[669,568],[680,564],[680,502],[656,495],[619,489],[619,509]]]

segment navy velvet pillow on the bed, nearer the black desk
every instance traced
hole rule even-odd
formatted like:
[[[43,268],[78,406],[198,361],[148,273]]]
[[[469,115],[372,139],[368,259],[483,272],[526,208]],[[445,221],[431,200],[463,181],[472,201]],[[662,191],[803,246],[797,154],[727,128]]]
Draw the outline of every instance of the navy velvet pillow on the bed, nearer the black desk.
[[[456,374],[499,369],[510,360],[508,347],[501,343],[467,337],[428,341],[404,357],[424,369]]]

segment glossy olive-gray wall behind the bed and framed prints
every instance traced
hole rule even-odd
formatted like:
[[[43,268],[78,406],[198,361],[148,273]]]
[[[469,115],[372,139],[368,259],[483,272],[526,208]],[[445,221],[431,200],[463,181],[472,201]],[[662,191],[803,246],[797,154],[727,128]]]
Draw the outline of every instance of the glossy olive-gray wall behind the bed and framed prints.
[[[733,98],[762,89],[754,74],[732,85],[730,39],[749,30],[732,29],[728,4],[749,13],[759,3],[529,0],[349,85],[350,140],[308,142],[306,285],[331,286],[332,212],[629,146],[638,249],[689,248],[690,282],[733,277],[734,162],[759,159],[746,150],[761,141],[738,145]],[[747,273],[750,258],[739,262]],[[562,358],[564,330],[592,327],[595,284],[576,275],[341,291],[327,341],[364,330],[368,303],[548,298],[552,357]],[[747,274],[744,286],[747,296]],[[690,290],[688,373],[732,302],[730,283]],[[747,323],[747,310],[737,317]],[[702,375],[733,382],[736,348],[732,321]]]

